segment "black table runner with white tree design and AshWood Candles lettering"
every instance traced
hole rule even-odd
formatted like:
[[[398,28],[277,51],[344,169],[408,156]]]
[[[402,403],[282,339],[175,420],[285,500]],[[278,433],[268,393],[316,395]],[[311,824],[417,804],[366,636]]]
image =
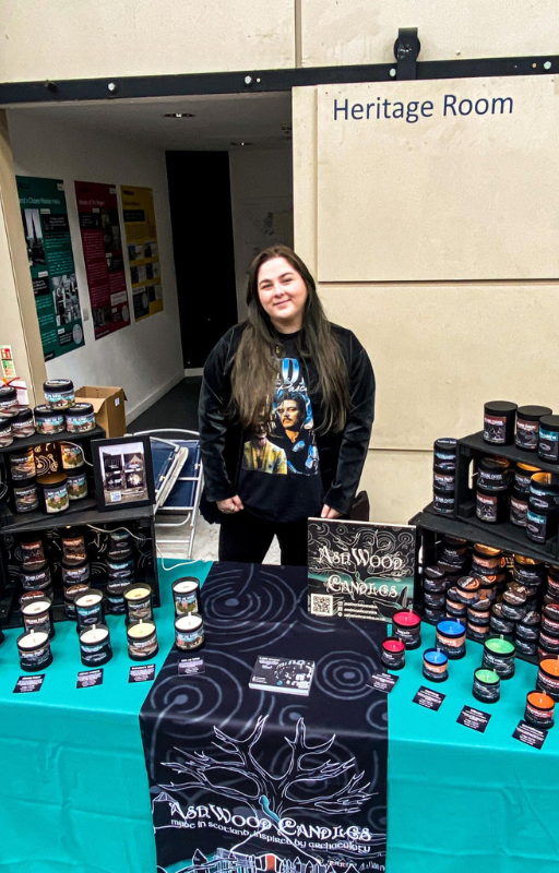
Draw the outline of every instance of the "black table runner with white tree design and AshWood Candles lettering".
[[[307,612],[307,571],[214,564],[204,672],[173,649],[140,713],[158,871],[384,870],[385,625]],[[258,655],[316,661],[309,696],[249,689]]]

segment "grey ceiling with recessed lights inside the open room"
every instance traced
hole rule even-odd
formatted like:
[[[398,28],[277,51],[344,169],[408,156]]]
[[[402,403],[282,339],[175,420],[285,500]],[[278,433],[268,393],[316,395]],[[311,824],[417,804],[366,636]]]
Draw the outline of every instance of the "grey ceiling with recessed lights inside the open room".
[[[198,97],[142,98],[79,104],[36,104],[10,113],[59,120],[73,127],[104,130],[116,136],[171,150],[233,151],[231,143],[258,148],[290,146],[292,95],[227,94]],[[190,112],[193,118],[166,118]],[[288,132],[282,131],[282,125]]]

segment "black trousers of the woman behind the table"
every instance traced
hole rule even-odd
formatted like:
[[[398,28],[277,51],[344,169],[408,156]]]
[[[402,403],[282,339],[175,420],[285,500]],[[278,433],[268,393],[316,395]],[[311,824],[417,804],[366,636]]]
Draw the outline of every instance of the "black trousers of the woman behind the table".
[[[307,566],[307,518],[280,524],[241,510],[230,515],[221,513],[221,528],[219,561],[261,564],[276,536],[282,564]]]

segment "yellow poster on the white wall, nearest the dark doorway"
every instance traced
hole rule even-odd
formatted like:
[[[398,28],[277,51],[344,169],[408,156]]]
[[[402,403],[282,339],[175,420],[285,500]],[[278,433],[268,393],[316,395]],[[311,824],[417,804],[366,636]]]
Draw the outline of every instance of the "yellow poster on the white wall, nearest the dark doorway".
[[[127,235],[134,319],[163,310],[157,227],[151,188],[120,186]]]

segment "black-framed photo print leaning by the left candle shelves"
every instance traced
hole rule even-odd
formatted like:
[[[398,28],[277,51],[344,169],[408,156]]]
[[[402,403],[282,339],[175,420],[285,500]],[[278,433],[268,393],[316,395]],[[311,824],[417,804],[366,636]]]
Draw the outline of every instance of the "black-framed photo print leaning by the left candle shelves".
[[[148,436],[92,440],[92,454],[99,512],[155,502]]]

